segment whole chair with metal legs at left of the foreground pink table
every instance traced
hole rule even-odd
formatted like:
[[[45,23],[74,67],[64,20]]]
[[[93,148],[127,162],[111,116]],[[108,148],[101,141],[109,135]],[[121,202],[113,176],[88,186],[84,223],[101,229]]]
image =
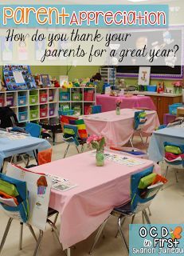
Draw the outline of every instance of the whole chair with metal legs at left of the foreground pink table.
[[[10,182],[10,184],[15,185],[16,189],[18,190],[18,196],[23,199],[23,201],[20,202],[18,204],[18,206],[15,206],[15,207],[7,206],[5,204],[0,203],[0,206],[1,206],[0,209],[2,209],[4,211],[4,213],[9,217],[9,221],[6,225],[6,230],[3,234],[2,242],[0,245],[0,254],[1,254],[4,244],[6,242],[6,237],[10,230],[12,221],[14,219],[18,219],[18,221],[20,222],[20,225],[21,225],[20,238],[19,238],[19,250],[22,250],[23,224],[25,223],[25,225],[29,227],[29,230],[30,230],[31,234],[33,235],[33,238],[37,242],[37,245],[36,245],[34,253],[33,253],[33,256],[37,256],[38,251],[41,246],[41,240],[43,238],[43,231],[39,230],[40,231],[39,237],[37,239],[37,237],[33,231],[33,227],[29,224],[29,202],[28,202],[29,191],[26,188],[26,182],[22,182],[17,179],[10,178],[10,177],[6,176],[5,174],[0,174],[0,179],[2,179],[3,181],[6,181],[6,182]],[[18,212],[18,214],[15,214],[15,212]],[[53,210],[52,208],[49,208],[48,209],[48,217],[47,217],[46,222],[49,224],[49,226],[52,227],[52,230],[55,232],[55,234],[57,236],[57,240],[60,242],[59,234],[57,232],[57,227],[55,226],[55,223],[49,219],[51,216],[53,216],[53,214],[58,214],[57,210]]]

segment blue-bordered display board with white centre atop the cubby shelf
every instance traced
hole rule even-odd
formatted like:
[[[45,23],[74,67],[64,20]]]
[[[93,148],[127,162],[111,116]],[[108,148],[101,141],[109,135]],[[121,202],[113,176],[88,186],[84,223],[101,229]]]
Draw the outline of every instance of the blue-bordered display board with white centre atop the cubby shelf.
[[[3,77],[8,90],[37,88],[29,66],[3,66]]]

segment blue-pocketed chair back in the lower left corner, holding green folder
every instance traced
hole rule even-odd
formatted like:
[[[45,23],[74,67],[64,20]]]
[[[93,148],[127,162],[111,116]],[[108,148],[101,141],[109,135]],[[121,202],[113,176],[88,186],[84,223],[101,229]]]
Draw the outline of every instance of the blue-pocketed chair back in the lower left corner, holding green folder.
[[[5,214],[21,222],[27,222],[29,202],[26,182],[0,173],[0,191],[0,208]]]

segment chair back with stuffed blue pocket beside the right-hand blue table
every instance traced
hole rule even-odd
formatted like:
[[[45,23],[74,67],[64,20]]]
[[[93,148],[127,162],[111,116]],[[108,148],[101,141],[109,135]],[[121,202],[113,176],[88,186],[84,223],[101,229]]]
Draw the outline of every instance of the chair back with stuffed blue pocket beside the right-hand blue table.
[[[166,164],[184,168],[184,145],[175,144],[173,142],[163,143],[165,150],[164,160]]]

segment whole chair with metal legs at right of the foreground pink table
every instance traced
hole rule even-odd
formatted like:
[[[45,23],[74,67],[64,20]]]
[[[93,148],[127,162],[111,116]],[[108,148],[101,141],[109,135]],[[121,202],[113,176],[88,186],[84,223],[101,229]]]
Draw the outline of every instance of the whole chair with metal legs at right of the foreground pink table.
[[[131,201],[127,202],[126,204],[124,204],[122,206],[115,207],[112,210],[112,213],[108,216],[108,218],[111,215],[114,215],[116,217],[118,216],[119,231],[117,232],[115,237],[117,237],[118,234],[121,235],[123,245],[127,249],[127,254],[129,254],[129,248],[128,248],[128,245],[127,245],[127,242],[124,237],[123,230],[122,230],[122,226],[123,226],[125,219],[127,217],[131,217],[132,218],[131,224],[132,224],[134,222],[135,214],[142,212],[143,222],[144,222],[144,218],[145,218],[147,224],[151,224],[151,221],[147,214],[147,209],[151,205],[152,200],[155,198],[155,195],[159,192],[159,190],[162,188],[162,185],[163,185],[163,182],[159,182],[158,185],[155,184],[155,188],[151,189],[151,190],[148,189],[150,185],[147,186],[147,189],[144,189],[144,190],[139,188],[140,181],[142,178],[148,178],[148,177],[154,178],[155,177],[153,175],[153,168],[154,168],[154,166],[151,166],[151,167],[147,168],[146,170],[143,170],[137,174],[131,175]],[[151,176],[150,176],[150,174],[151,174]],[[166,180],[165,180],[165,182],[166,182]],[[149,195],[149,193],[147,193],[148,196],[143,198],[142,194],[145,191],[146,191],[146,193],[151,192],[151,194]],[[108,218],[101,224],[101,226],[96,234],[96,238],[92,245],[92,248],[89,251],[89,254],[92,254],[92,250],[95,248],[96,243],[98,242],[98,240],[100,238],[100,234],[102,233],[102,231],[104,230],[104,226],[108,222]]]

